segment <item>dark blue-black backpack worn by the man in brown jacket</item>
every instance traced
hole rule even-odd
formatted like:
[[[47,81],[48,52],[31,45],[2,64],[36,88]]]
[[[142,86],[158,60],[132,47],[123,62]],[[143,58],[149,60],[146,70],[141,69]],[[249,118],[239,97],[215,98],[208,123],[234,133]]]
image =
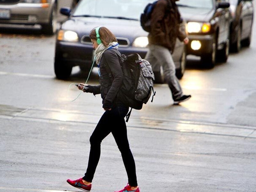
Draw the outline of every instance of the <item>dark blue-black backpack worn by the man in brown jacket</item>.
[[[140,15],[140,25],[144,29],[144,31],[150,32],[151,30],[150,18],[156,3],[157,1],[147,4],[147,6],[144,9],[144,12]]]

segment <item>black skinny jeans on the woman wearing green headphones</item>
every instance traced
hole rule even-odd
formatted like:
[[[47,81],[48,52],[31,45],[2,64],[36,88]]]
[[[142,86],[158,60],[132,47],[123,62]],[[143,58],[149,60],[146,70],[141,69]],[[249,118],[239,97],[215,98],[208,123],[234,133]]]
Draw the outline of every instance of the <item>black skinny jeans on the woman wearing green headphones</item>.
[[[105,111],[101,116],[99,123],[90,137],[91,150],[89,156],[88,167],[83,179],[92,182],[96,167],[100,160],[100,143],[111,132],[119,148],[124,167],[128,176],[129,185],[136,187],[137,177],[135,162],[129,147],[127,138],[127,129],[124,117],[128,113],[129,108],[116,107],[110,111]]]

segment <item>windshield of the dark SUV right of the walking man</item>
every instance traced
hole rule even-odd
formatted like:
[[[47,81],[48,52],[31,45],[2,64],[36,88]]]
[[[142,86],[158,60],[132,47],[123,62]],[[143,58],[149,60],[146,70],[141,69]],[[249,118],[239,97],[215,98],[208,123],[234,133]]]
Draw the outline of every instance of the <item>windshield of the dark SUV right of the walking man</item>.
[[[180,1],[176,1],[176,4],[179,7],[194,7],[194,8],[204,8],[204,9],[213,8],[212,0],[180,0]]]

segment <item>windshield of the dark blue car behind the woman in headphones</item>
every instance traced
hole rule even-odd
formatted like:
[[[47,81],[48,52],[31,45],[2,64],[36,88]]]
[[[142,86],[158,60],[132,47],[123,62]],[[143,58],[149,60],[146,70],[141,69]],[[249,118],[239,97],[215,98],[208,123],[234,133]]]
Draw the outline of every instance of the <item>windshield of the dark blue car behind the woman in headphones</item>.
[[[80,0],[73,16],[106,17],[139,20],[148,3],[153,0]]]

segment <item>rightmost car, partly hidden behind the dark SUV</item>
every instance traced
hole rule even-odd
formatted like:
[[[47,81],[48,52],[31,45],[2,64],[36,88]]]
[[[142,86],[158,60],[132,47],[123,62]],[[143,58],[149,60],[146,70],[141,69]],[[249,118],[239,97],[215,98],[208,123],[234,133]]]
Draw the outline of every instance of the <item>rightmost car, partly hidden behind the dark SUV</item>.
[[[232,13],[230,26],[230,50],[239,52],[241,45],[251,44],[253,4],[252,0],[229,0]]]

